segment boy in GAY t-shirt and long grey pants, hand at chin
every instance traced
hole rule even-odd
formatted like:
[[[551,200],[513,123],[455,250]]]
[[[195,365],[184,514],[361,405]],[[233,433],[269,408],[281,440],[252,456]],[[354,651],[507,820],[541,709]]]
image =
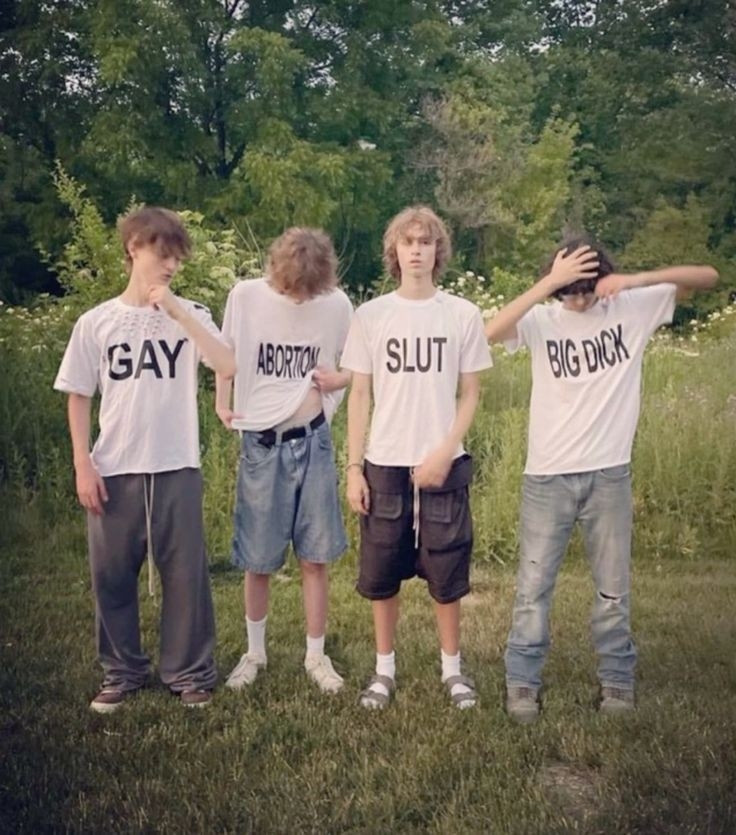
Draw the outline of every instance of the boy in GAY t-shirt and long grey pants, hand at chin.
[[[197,367],[235,371],[209,311],[169,285],[190,252],[174,212],[144,208],[119,231],[129,274],[123,293],[84,313],[54,388],[69,395],[77,495],[87,510],[104,671],[90,707],[117,709],[143,687],[138,574],[148,549],[162,587],[163,683],[189,706],[211,699],[215,624],[202,526]],[[90,405],[99,389],[100,432],[90,453]],[[149,575],[150,576],[150,575]]]

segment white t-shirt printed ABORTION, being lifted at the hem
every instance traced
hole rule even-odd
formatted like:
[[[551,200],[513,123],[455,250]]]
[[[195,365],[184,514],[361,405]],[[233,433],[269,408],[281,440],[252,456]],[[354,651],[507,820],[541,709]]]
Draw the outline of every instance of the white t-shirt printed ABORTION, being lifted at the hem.
[[[353,306],[342,290],[296,302],[265,278],[240,281],[230,291],[222,325],[235,349],[233,429],[277,426],[296,412],[312,386],[318,365],[335,369]],[[322,395],[328,420],[345,393]]]

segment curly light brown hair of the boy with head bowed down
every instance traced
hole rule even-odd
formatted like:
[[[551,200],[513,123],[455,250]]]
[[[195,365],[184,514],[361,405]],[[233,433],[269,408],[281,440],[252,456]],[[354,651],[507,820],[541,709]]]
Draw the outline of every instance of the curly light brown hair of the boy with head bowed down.
[[[274,290],[311,299],[336,286],[337,255],[321,229],[292,226],[271,244],[267,272]]]

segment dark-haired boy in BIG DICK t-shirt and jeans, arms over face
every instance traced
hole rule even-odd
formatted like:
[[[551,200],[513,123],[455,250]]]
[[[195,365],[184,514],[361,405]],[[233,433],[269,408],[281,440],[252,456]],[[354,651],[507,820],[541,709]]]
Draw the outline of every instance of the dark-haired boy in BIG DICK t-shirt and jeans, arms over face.
[[[598,246],[573,241],[549,271],[486,325],[491,342],[531,354],[529,447],[521,502],[521,557],[506,647],[506,707],[539,714],[552,593],[579,523],[595,583],[591,632],[600,710],[634,707],[636,650],[629,625],[631,446],[644,349],[672,320],[675,301],[712,287],[711,267],[614,272]],[[550,296],[556,301],[542,304]]]

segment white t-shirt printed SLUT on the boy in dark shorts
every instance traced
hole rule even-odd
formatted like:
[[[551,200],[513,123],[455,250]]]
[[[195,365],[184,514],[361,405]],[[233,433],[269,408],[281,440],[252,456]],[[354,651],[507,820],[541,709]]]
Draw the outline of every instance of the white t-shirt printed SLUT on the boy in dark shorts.
[[[459,375],[491,366],[478,308],[437,292],[430,299],[387,293],[358,308],[343,368],[373,375],[373,416],[365,457],[413,467],[447,437]],[[463,454],[458,445],[455,456]]]

